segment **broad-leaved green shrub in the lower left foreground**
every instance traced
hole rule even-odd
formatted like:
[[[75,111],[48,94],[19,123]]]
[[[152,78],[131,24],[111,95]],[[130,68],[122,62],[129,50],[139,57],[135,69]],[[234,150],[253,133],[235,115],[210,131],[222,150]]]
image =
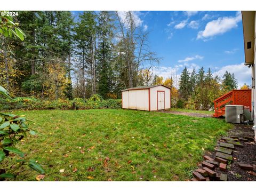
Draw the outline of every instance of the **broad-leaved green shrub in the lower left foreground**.
[[[11,100],[7,91],[2,86],[0,86],[0,93]],[[25,101],[23,98],[21,100]],[[29,100],[25,102],[29,102]],[[1,164],[3,163],[2,167],[5,168],[1,170],[0,180],[15,179],[17,176],[15,171],[23,165],[28,165],[41,174],[45,173],[41,165],[32,159],[27,160],[25,154],[15,147],[21,139],[27,136],[27,133],[35,135],[36,131],[28,127],[27,119],[24,115],[17,116],[0,113],[0,162]],[[21,157],[17,159],[18,165],[10,165],[10,153]]]

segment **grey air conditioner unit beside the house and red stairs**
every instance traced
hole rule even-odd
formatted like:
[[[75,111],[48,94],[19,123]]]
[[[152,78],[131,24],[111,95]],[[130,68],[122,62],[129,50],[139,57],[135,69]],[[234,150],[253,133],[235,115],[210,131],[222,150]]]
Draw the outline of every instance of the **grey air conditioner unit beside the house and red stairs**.
[[[242,105],[226,105],[225,119],[228,123],[244,122],[244,106]]]

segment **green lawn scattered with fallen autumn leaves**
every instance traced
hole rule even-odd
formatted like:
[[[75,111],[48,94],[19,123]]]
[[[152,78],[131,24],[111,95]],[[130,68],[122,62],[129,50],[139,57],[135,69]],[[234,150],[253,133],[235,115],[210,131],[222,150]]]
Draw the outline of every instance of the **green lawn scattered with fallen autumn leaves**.
[[[31,127],[43,135],[23,139],[19,148],[42,164],[46,181],[186,180],[205,150],[232,127],[217,118],[122,109],[13,113],[39,123]],[[37,174],[26,167],[17,180]]]

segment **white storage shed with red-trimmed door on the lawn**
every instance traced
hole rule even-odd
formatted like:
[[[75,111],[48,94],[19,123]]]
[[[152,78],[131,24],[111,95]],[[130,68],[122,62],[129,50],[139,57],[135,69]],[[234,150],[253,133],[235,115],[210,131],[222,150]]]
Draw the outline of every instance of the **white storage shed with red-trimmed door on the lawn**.
[[[165,85],[152,85],[122,90],[122,108],[147,111],[169,109],[171,88]]]

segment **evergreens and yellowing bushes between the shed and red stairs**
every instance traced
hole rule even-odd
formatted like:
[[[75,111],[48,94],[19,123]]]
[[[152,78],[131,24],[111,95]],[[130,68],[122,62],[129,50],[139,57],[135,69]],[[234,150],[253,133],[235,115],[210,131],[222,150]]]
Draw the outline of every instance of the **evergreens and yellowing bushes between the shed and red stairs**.
[[[223,77],[213,75],[209,68],[205,73],[200,68],[189,73],[185,67],[179,80],[180,105],[186,103],[188,108],[209,110],[213,108],[213,101],[228,91],[237,89],[237,79],[234,73],[228,71]],[[246,85],[242,89],[249,89]]]

